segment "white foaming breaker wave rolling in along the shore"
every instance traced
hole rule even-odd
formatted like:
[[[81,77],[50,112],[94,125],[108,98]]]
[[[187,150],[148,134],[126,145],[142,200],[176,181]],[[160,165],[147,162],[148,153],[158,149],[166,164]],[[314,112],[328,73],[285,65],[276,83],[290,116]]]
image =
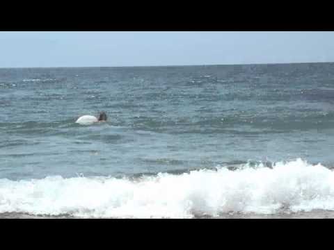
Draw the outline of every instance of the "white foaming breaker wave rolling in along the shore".
[[[221,213],[334,210],[334,172],[298,159],[273,169],[202,169],[136,181],[117,178],[0,179],[0,213],[77,217],[190,218]]]

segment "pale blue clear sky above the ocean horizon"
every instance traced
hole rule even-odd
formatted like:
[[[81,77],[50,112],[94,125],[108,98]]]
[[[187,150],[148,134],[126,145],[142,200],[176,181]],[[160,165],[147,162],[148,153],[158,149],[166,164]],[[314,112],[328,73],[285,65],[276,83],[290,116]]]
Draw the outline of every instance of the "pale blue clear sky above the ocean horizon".
[[[0,31],[0,67],[334,62],[334,32]]]

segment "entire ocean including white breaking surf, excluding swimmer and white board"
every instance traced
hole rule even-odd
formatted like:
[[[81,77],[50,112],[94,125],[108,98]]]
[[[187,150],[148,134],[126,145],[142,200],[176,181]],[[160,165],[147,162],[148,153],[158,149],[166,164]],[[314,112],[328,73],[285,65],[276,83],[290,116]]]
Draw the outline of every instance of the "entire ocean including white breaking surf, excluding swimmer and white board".
[[[0,217],[333,215],[334,63],[0,69],[0,110]]]

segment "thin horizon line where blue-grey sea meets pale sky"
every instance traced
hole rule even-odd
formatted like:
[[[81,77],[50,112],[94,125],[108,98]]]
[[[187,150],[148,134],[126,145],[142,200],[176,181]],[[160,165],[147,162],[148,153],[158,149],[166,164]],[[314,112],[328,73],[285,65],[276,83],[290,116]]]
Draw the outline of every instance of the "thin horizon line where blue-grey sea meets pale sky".
[[[301,63],[230,63],[230,64],[195,64],[195,65],[133,65],[133,66],[54,66],[54,67],[0,67],[0,69],[61,69],[61,68],[118,68],[118,67],[205,67],[205,66],[243,66],[243,65],[290,65],[290,64],[311,64],[311,63],[334,63],[328,62],[301,62]]]

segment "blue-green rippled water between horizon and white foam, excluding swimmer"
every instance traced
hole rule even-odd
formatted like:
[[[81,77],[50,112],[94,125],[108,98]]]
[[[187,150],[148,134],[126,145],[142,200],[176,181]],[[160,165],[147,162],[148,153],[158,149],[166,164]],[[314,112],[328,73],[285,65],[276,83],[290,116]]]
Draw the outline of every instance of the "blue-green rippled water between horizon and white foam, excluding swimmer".
[[[0,69],[0,107],[0,180],[11,185],[334,166],[334,63]],[[101,110],[106,123],[75,123]]]

